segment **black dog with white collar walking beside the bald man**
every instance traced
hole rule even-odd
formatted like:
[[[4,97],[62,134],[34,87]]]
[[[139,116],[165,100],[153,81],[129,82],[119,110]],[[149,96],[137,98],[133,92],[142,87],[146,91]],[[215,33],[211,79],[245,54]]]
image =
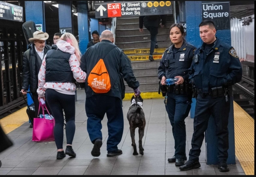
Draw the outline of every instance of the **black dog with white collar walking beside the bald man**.
[[[143,99],[141,96],[139,97],[132,97],[131,99],[131,107],[127,113],[127,119],[130,124],[130,132],[132,138],[132,146],[133,146],[133,155],[138,155],[137,147],[135,143],[135,129],[139,128],[139,153],[143,155],[143,147],[142,147],[142,138],[144,136],[144,130],[146,126],[145,115],[142,110],[142,103]]]

